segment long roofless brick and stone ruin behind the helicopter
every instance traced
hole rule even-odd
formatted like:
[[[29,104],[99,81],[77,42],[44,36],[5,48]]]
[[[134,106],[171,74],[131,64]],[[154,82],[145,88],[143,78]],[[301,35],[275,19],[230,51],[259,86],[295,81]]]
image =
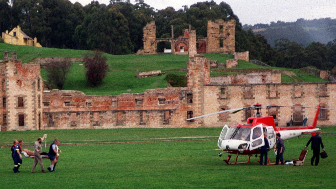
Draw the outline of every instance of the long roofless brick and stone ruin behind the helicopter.
[[[321,104],[336,109],[336,83],[281,83],[277,71],[266,74],[267,82],[218,83],[210,77],[209,59],[199,54],[190,55],[187,63],[187,87],[116,96],[43,90],[39,64],[22,64],[15,54],[4,57],[1,130],[231,126],[246,121],[254,110],[185,119],[255,103],[302,107],[262,109],[261,113],[273,116],[279,125],[290,120],[302,124],[304,117],[311,124],[316,110],[304,107]],[[335,123],[336,111],[320,110],[318,125]]]

